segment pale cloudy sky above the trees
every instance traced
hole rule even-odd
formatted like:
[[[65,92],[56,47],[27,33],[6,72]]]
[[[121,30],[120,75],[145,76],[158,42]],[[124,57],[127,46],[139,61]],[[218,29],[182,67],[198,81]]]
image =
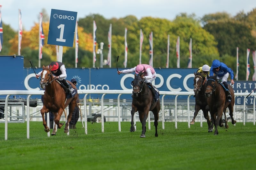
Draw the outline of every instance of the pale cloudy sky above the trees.
[[[173,20],[176,15],[186,12],[195,13],[196,17],[216,12],[228,12],[235,16],[256,8],[255,0],[0,0],[2,21],[18,30],[18,10],[22,14],[24,30],[30,30],[38,23],[39,12],[44,8],[51,14],[51,9],[75,11],[77,18],[90,14],[100,14],[104,18],[123,18],[134,15],[138,19],[151,16]],[[96,21],[97,23],[97,21]]]

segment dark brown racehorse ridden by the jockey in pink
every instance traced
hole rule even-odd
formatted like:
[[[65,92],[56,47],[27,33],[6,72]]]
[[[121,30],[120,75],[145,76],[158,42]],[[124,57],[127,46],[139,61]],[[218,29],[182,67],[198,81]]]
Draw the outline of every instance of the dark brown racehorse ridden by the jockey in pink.
[[[148,118],[149,111],[152,111],[154,114],[154,126],[156,129],[155,137],[158,137],[157,133],[157,125],[158,125],[158,118],[159,118],[159,111],[160,111],[160,101],[159,99],[154,102],[153,94],[149,89],[148,85],[145,83],[143,79],[144,73],[139,73],[138,75],[134,74],[135,78],[132,81],[132,122],[131,122],[131,132],[135,131],[133,117],[135,112],[139,111],[140,122],[142,124],[142,132],[140,137],[146,137],[146,121]]]

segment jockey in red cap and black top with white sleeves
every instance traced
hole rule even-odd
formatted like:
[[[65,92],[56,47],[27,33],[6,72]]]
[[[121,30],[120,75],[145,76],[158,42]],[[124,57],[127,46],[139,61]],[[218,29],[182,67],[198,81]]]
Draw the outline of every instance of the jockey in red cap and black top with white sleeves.
[[[67,73],[66,73],[66,68],[65,65],[61,62],[52,62],[49,65],[49,68],[52,66],[52,74],[54,78],[57,78],[60,82],[63,83],[63,85],[65,85],[68,89],[69,93],[72,93],[72,90],[68,84],[68,82],[66,81],[67,78]],[[40,71],[38,74],[36,74],[36,78],[39,78],[41,76],[41,72]]]

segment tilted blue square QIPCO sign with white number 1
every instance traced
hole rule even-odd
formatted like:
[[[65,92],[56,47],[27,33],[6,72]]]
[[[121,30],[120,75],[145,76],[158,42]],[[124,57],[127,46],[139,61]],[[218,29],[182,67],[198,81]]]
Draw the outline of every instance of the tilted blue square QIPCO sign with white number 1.
[[[48,44],[73,47],[77,12],[52,9]]]

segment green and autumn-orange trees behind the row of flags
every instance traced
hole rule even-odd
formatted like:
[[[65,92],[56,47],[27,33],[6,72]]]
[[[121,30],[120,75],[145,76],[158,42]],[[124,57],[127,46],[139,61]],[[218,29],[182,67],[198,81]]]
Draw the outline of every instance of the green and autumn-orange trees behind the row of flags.
[[[56,48],[48,45],[49,16],[43,9],[43,29],[45,43],[41,66],[56,61]],[[176,41],[180,37],[180,68],[187,68],[189,58],[189,40],[192,39],[192,68],[208,64],[212,60],[219,59],[226,63],[236,74],[236,47],[239,48],[239,80],[246,77],[246,48],[256,50],[256,8],[245,14],[243,11],[231,16],[226,12],[218,12],[197,18],[195,14],[180,13],[172,21],[164,18],[144,17],[140,20],[129,15],[124,18],[106,19],[100,14],[90,14],[84,18],[78,18],[78,64],[77,67],[92,67],[93,41],[92,23],[97,25],[97,48],[100,42],[104,43],[103,56],[108,55],[108,30],[112,24],[112,63],[116,66],[116,58],[119,55],[118,67],[124,67],[124,30],[127,28],[128,59],[127,68],[132,68],[139,63],[140,29],[144,40],[142,44],[141,62],[149,61],[149,34],[153,32],[153,64],[154,67],[164,68],[167,60],[167,38],[170,35],[169,68],[176,68]],[[24,67],[30,67],[38,63],[38,29],[39,23],[31,30],[23,30],[21,42],[21,55],[24,56]],[[3,49],[1,55],[13,55],[18,51],[18,33],[3,22]],[[95,67],[100,66],[100,55],[96,54]],[[75,67],[75,45],[73,48],[63,47],[63,63],[67,68]],[[252,53],[250,53],[252,80],[254,73]],[[109,66],[104,65],[104,68]]]

